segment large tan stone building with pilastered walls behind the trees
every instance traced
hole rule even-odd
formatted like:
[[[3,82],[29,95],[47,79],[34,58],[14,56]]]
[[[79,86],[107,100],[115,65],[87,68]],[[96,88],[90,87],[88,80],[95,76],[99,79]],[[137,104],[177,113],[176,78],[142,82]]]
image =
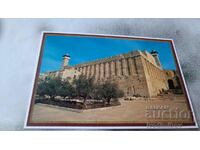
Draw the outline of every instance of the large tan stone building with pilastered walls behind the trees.
[[[69,55],[63,56],[61,70],[42,75],[60,76],[72,81],[80,74],[94,77],[95,82],[107,80],[117,83],[126,96],[152,97],[169,89],[166,71],[162,69],[158,53],[152,51],[131,51],[118,56],[103,58],[92,62],[69,66]]]

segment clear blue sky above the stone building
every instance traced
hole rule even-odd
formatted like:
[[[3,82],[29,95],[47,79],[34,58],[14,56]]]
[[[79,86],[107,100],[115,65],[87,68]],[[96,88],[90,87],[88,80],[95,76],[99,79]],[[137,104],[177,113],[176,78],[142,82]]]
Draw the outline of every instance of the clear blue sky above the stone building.
[[[59,70],[62,64],[62,56],[66,53],[71,56],[69,64],[73,66],[132,50],[151,52],[152,49],[158,51],[164,69],[175,70],[169,42],[48,35],[45,39],[40,72]]]

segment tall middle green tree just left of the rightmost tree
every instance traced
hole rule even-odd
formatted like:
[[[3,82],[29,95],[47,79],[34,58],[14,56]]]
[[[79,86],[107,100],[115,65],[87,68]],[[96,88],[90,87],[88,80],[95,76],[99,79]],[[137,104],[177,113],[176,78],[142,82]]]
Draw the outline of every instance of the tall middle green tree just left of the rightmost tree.
[[[86,100],[91,96],[92,91],[94,90],[94,78],[86,78],[83,75],[80,75],[78,79],[73,81],[75,85],[76,94],[79,97],[82,97],[83,104],[85,106]]]

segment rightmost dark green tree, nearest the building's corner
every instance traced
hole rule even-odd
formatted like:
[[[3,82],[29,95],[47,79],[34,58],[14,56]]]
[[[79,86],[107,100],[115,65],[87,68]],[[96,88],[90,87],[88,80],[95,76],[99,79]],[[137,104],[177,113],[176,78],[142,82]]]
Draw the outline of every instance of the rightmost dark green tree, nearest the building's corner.
[[[107,81],[97,87],[96,95],[98,99],[102,98],[104,103],[106,101],[108,104],[110,104],[112,98],[123,97],[124,92],[118,88],[117,84]]]

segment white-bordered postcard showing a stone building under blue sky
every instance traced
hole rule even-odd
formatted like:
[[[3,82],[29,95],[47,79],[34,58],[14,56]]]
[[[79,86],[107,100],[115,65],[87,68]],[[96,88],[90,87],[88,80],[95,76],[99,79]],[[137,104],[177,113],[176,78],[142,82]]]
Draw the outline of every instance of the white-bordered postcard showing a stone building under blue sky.
[[[173,39],[44,32],[26,128],[196,128]]]

